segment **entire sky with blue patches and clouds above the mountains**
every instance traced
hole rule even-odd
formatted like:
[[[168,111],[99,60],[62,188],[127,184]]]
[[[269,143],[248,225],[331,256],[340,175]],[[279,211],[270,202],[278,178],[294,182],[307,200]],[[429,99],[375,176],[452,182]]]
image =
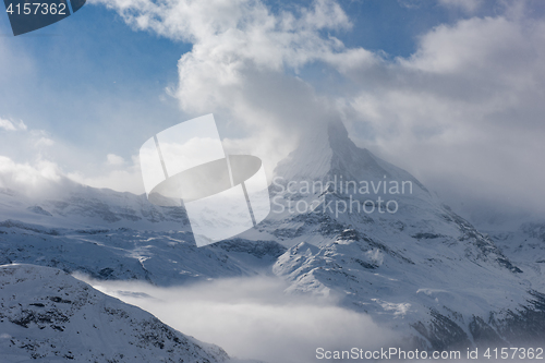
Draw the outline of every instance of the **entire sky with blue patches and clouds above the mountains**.
[[[47,165],[94,186],[141,192],[133,157],[142,143],[209,112],[228,148],[274,165],[306,125],[295,116],[319,118],[318,97],[354,142],[447,199],[495,201],[505,190],[516,201],[545,196],[532,160],[544,153],[542,1],[149,4],[94,0],[17,37],[0,16],[0,119],[26,125],[0,128],[3,170],[39,174]],[[287,12],[294,28],[282,28]],[[279,109],[291,93],[284,108],[293,120]],[[506,168],[529,180],[519,185]]]

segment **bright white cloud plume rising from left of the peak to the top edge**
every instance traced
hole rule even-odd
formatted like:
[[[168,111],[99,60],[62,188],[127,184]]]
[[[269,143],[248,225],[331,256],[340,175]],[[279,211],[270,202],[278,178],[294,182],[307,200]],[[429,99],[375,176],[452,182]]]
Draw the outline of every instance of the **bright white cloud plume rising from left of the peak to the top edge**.
[[[214,112],[228,121],[237,135],[230,144],[262,157],[269,174],[308,124],[335,117],[327,99],[287,73],[314,62],[342,68],[377,59],[365,49],[348,49],[332,35],[352,26],[332,0],[278,13],[255,0],[94,2],[114,9],[135,29],[192,43],[179,60],[178,86],[170,94],[189,114]]]

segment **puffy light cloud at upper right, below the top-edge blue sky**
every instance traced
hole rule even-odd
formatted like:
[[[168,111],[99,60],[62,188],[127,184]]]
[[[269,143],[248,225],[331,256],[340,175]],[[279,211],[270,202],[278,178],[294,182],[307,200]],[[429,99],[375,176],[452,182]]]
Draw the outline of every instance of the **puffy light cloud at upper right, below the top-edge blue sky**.
[[[507,81],[512,82],[522,75],[525,61],[535,61],[543,53],[542,36],[536,32],[543,25],[534,24],[536,29],[528,25],[502,16],[440,25],[422,36],[416,53],[401,62],[409,69],[435,74],[457,73],[493,81],[493,73],[501,81],[509,77]],[[534,50],[538,53],[533,53]]]

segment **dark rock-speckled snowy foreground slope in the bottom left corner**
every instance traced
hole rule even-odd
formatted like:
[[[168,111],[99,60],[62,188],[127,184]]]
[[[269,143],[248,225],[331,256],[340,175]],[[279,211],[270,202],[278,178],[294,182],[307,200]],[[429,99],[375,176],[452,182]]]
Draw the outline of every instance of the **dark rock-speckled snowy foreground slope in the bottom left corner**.
[[[229,361],[221,348],[55,268],[0,266],[0,361],[5,363]]]

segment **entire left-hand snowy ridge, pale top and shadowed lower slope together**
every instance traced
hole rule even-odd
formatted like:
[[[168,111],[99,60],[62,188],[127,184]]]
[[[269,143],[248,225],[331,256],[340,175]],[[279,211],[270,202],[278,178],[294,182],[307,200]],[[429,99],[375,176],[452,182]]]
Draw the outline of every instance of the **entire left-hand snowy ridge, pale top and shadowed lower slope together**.
[[[270,269],[286,247],[232,239],[197,249],[182,207],[63,180],[43,196],[0,190],[0,263],[169,286]]]

